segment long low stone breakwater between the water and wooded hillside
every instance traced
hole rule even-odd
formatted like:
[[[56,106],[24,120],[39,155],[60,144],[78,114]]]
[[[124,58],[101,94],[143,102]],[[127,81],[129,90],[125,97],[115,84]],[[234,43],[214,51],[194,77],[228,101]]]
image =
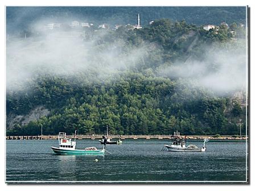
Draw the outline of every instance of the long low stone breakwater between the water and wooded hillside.
[[[172,135],[109,135],[110,139],[171,139]],[[185,139],[201,140],[246,140],[248,136],[232,136],[232,135],[194,135],[194,136],[180,136]],[[74,138],[74,135],[68,135],[67,138]],[[55,140],[57,135],[38,135],[38,136],[6,136],[6,140]],[[102,139],[102,135],[76,135],[76,139]]]

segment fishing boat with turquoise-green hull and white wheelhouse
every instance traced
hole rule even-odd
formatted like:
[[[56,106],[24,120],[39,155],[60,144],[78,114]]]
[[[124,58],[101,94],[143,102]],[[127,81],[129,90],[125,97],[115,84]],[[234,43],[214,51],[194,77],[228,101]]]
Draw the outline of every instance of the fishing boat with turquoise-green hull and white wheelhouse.
[[[86,147],[85,149],[76,149],[76,131],[75,140],[67,138],[65,132],[59,132],[58,136],[59,148],[51,147],[52,151],[56,155],[104,155],[105,145],[102,150],[98,150],[96,147]]]

